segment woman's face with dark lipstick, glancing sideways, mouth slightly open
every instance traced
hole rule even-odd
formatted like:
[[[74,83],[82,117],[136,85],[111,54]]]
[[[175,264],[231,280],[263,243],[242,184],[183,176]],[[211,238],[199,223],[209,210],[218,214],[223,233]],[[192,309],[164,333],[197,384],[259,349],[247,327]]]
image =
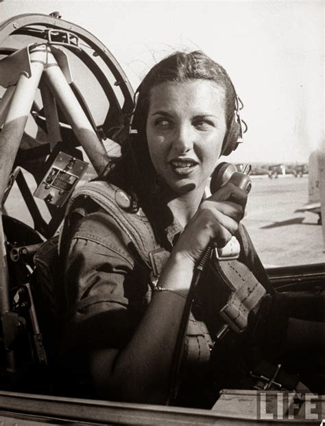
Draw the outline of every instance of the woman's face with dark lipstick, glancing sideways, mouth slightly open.
[[[172,191],[204,190],[225,134],[224,90],[215,82],[166,82],[152,88],[147,117],[149,153]]]

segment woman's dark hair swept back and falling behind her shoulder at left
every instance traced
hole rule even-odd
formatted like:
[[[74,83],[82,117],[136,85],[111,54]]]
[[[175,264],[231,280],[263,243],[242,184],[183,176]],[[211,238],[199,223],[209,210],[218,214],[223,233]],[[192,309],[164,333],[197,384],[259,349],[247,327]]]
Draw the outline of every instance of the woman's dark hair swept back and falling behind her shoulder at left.
[[[206,56],[202,51],[191,53],[176,52],[154,65],[136,91],[136,107],[133,115],[126,120],[117,141],[121,144],[121,157],[112,161],[106,172],[106,179],[121,187],[132,198],[132,208],[157,205],[155,198],[161,196],[162,182],[152,165],[147,147],[146,123],[149,97],[152,88],[163,82],[187,82],[210,80],[224,89],[226,123],[228,131],[237,106],[237,95],[226,70]],[[130,134],[130,121],[132,130]],[[226,139],[226,138],[225,138]],[[147,213],[147,211],[146,211]]]

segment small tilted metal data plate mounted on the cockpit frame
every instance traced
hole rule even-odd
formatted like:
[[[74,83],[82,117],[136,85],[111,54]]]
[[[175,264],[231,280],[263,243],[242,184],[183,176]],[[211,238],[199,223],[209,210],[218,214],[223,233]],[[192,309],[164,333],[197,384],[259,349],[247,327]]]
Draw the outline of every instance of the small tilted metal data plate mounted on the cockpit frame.
[[[59,152],[42,182],[34,191],[34,196],[57,207],[62,206],[87,167],[86,161]]]

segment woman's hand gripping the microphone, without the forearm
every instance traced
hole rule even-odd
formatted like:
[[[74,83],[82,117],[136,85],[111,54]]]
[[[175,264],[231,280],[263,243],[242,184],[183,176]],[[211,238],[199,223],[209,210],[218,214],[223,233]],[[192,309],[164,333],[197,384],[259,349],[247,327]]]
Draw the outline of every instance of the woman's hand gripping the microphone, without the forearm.
[[[197,264],[208,246],[224,247],[245,213],[247,193],[231,182],[204,200],[186,225],[173,254]]]

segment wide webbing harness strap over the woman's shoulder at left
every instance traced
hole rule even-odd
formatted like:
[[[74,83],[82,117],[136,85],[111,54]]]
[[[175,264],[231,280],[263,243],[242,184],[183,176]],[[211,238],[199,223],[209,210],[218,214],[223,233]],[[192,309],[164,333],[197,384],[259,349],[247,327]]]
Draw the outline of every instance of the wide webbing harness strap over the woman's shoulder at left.
[[[80,197],[85,200],[90,198],[119,223],[149,268],[154,269],[154,266],[159,265],[163,258],[167,258],[167,252],[160,248],[154,230],[143,210],[139,209],[136,213],[127,210],[131,200],[125,191],[105,181],[88,182],[73,193],[67,204],[65,217],[69,217],[73,212]],[[61,239],[67,233],[67,227],[69,227],[67,222],[69,221],[64,221]]]

